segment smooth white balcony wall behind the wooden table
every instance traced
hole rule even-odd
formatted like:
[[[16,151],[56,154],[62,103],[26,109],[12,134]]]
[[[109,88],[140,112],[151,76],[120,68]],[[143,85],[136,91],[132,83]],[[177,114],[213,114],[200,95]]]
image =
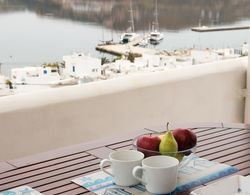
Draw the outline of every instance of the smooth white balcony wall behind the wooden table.
[[[0,98],[0,161],[170,122],[243,122],[247,58]]]

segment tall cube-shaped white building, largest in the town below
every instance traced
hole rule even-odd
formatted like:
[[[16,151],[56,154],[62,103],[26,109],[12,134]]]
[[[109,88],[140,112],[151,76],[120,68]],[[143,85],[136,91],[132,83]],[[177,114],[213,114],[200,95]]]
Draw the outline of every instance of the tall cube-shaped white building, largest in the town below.
[[[65,76],[77,78],[98,78],[101,76],[101,59],[77,53],[63,56]]]

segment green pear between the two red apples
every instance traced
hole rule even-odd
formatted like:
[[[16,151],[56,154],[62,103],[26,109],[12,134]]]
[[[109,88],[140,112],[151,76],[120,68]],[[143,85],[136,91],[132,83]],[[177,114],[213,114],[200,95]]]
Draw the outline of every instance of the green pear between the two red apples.
[[[176,156],[178,145],[170,130],[168,130],[163,136],[159,146],[159,151],[162,155]]]

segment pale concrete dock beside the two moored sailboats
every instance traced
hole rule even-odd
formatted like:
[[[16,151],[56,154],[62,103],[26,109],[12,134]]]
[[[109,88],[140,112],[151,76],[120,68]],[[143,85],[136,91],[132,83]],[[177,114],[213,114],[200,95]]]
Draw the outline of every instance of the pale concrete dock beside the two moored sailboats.
[[[128,53],[142,55],[142,54],[156,54],[159,51],[156,49],[149,49],[138,47],[139,43],[145,39],[146,36],[140,36],[134,41],[126,44],[114,43],[114,44],[101,44],[96,46],[97,51],[113,54],[113,55],[127,55]]]

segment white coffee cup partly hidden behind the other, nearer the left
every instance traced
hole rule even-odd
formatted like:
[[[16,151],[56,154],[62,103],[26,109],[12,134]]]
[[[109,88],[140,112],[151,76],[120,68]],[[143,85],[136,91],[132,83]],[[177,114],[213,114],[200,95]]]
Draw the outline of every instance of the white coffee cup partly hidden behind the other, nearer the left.
[[[132,186],[140,183],[133,177],[133,168],[141,165],[144,158],[142,152],[136,150],[120,150],[109,154],[109,159],[104,159],[100,163],[103,172],[111,175],[114,182],[120,186]],[[105,165],[111,165],[111,172],[104,168]]]

